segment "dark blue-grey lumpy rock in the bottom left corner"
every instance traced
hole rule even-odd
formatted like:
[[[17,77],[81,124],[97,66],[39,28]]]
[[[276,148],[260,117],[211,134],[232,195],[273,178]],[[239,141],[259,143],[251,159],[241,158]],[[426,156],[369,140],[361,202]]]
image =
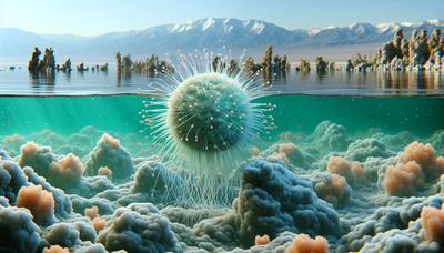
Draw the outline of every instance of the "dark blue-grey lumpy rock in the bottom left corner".
[[[0,251],[36,252],[40,244],[38,226],[26,209],[0,206]]]

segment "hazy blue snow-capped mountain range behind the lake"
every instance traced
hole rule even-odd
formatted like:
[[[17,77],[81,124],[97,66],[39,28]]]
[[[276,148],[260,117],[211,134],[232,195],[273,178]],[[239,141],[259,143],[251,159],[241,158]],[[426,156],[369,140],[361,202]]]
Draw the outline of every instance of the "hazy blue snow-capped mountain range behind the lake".
[[[145,30],[113,32],[95,37],[73,34],[37,34],[14,28],[0,28],[0,62],[24,62],[33,47],[52,47],[56,59],[63,61],[114,61],[115,52],[131,53],[143,59],[151,53],[193,52],[208,49],[233,53],[246,50],[260,57],[272,44],[290,59],[313,58],[317,54],[345,60],[357,52],[374,53],[402,28],[408,38],[414,29],[444,29],[444,20],[421,23],[354,23],[349,27],[289,30],[261,20],[201,19],[181,24],[163,24]]]

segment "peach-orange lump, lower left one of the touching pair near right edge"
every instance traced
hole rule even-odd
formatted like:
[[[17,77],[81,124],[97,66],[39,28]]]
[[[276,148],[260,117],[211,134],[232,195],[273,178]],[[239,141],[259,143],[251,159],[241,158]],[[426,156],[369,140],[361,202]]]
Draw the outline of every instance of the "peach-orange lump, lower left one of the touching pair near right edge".
[[[421,166],[410,161],[386,169],[383,186],[387,194],[406,196],[424,186],[424,174]]]

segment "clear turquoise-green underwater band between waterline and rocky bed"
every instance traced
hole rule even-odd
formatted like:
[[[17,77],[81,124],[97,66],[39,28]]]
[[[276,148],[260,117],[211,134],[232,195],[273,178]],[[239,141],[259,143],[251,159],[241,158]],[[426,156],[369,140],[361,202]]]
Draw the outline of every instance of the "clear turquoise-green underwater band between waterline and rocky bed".
[[[0,134],[31,134],[50,129],[68,135],[87,125],[138,134],[142,129],[138,112],[147,99],[143,95],[2,97]],[[380,129],[385,133],[410,131],[424,135],[444,128],[444,98],[274,95],[261,101],[278,107],[275,134],[310,133],[324,120],[343,124],[352,133]]]

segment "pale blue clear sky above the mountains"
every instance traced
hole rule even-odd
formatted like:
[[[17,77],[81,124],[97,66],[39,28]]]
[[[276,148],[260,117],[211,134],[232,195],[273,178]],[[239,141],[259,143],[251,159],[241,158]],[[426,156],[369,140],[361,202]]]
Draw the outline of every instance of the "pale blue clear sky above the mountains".
[[[99,36],[203,18],[287,29],[444,19],[444,0],[0,0],[0,28]]]

